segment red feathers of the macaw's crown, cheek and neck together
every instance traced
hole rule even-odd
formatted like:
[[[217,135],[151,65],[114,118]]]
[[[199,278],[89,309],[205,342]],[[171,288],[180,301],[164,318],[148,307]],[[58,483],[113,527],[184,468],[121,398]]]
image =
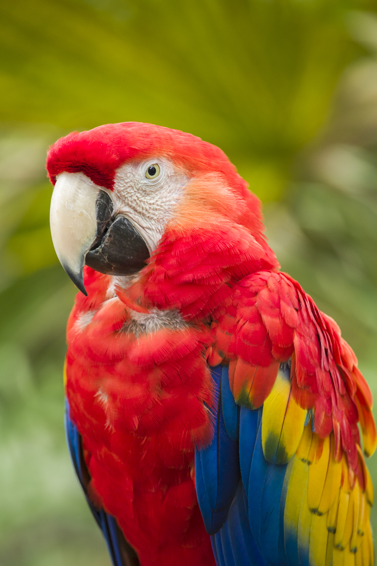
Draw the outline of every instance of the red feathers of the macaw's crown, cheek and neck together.
[[[112,190],[121,165],[148,157],[167,158],[191,179],[175,221],[144,270],[152,303],[185,307],[189,317],[208,315],[216,310],[213,303],[229,300],[229,281],[279,267],[263,237],[261,202],[225,153],[196,136],[140,122],[72,132],[51,146],[47,171],[52,183],[63,171],[82,171],[96,185]],[[184,261],[174,264],[177,256]]]

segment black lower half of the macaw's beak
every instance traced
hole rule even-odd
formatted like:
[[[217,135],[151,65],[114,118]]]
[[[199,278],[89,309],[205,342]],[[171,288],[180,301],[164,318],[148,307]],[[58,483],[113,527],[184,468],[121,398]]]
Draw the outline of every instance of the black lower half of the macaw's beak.
[[[141,235],[124,216],[110,220],[101,238],[85,257],[86,265],[101,273],[133,275],[145,267],[149,250]]]

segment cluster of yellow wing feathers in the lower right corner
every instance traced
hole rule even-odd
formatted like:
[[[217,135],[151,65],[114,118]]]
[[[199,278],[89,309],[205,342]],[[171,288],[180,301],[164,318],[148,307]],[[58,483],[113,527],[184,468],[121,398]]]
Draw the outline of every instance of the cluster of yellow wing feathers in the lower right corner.
[[[300,563],[307,563],[309,552],[310,566],[373,566],[371,477],[358,448],[363,491],[345,455],[341,462],[335,461],[334,447],[333,433],[321,440],[310,423],[304,428],[293,464],[287,468],[285,546],[297,537]]]

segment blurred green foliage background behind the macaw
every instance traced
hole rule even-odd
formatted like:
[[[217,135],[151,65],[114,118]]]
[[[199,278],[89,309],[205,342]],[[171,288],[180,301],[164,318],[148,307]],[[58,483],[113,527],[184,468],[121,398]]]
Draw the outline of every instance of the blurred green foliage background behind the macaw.
[[[340,324],[377,397],[375,12],[367,0],[1,4],[2,566],[110,564],[63,433],[75,288],[51,243],[44,161],[71,130],[135,120],[222,147],[263,201],[282,268]]]

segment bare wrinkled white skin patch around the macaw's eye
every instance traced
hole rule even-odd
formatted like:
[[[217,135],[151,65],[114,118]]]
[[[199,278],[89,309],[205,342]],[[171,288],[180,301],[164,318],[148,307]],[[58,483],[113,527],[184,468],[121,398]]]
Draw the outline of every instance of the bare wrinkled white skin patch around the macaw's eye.
[[[159,175],[146,177],[151,165],[159,166]],[[189,182],[187,175],[177,170],[166,158],[154,157],[143,162],[122,165],[115,175],[114,214],[122,214],[144,238],[149,251],[157,247],[166,224]]]

